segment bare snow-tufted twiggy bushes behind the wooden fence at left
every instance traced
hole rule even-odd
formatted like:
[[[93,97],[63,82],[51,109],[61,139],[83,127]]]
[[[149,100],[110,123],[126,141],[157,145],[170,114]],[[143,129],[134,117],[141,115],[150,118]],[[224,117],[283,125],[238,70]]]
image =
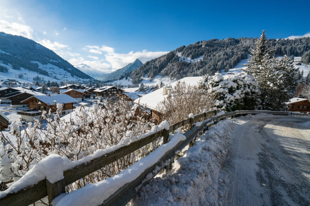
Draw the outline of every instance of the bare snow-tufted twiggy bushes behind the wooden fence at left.
[[[104,107],[80,107],[62,118],[62,105],[57,104],[56,107],[56,114],[43,111],[41,120],[34,120],[22,128],[13,123],[10,134],[0,133],[0,181],[6,183],[5,189],[10,186],[9,182],[20,179],[50,154],[58,154],[71,161],[80,160],[92,155],[97,149],[119,143],[126,145],[132,138],[146,133],[154,126],[143,118],[137,120],[135,111],[131,110],[131,101],[125,99],[108,99]],[[119,173],[159,146],[160,141],[152,142],[76,181],[66,187],[67,192]]]

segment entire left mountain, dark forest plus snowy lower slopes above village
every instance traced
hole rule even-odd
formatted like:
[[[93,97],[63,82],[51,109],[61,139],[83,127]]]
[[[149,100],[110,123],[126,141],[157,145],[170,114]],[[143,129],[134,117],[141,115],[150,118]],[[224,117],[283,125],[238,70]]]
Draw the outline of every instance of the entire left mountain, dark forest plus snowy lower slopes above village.
[[[0,32],[0,79],[32,82],[34,77],[57,82],[93,79],[41,44]]]

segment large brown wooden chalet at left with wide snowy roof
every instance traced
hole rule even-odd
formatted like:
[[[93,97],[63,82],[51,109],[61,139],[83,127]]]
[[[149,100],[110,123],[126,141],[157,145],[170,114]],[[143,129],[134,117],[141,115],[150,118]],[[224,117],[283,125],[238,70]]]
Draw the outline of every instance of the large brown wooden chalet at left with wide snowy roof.
[[[18,111],[17,114],[21,115],[21,119],[26,122],[32,122],[33,119],[40,119],[41,112],[51,109],[52,113],[57,111],[57,107],[54,104],[62,104],[61,116],[69,114],[75,109],[73,102],[76,102],[75,98],[67,94],[49,94],[49,95],[34,95],[22,101],[22,103],[29,105],[29,110]]]

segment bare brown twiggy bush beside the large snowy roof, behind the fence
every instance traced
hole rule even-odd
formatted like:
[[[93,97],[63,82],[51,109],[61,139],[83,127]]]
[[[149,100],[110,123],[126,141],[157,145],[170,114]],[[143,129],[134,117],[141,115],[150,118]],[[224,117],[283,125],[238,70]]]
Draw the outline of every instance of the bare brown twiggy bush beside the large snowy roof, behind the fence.
[[[199,86],[177,82],[172,88],[172,97],[165,98],[157,106],[162,118],[174,124],[188,118],[189,114],[199,114],[211,109],[213,99]]]

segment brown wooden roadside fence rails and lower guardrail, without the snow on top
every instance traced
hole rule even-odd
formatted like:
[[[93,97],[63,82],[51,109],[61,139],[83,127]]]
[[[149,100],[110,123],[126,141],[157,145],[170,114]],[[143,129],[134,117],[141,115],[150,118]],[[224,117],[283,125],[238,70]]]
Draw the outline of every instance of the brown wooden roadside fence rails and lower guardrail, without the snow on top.
[[[129,145],[122,146],[118,149],[115,149],[111,152],[105,153],[103,156],[98,157],[96,159],[91,160],[87,163],[81,163],[74,168],[66,170],[63,172],[64,179],[58,181],[54,184],[48,182],[48,180],[41,180],[37,184],[23,188],[15,193],[9,193],[5,197],[0,199],[0,205],[29,205],[37,200],[40,200],[46,196],[48,196],[49,203],[55,198],[57,195],[65,191],[65,186],[73,183],[76,180],[79,180],[92,172],[95,172],[104,166],[117,161],[124,156],[130,154],[131,152],[147,145],[148,143],[156,140],[159,137],[163,136],[164,143],[167,143],[169,133],[176,130],[179,127],[190,124],[190,129],[184,133],[186,137],[185,140],[180,141],[174,148],[167,151],[157,162],[155,165],[146,169],[137,179],[133,182],[127,183],[123,187],[119,188],[113,195],[104,200],[102,205],[125,205],[134,195],[138,192],[139,188],[148,183],[154,176],[158,173],[154,174],[154,168],[163,169],[169,162],[174,160],[178,152],[181,151],[186,145],[190,144],[193,139],[197,136],[197,134],[203,130],[208,129],[208,127],[212,124],[215,124],[219,120],[226,117],[235,117],[239,115],[247,115],[247,114],[274,114],[274,115],[300,115],[304,116],[306,114],[301,113],[291,113],[291,112],[273,112],[273,111],[235,111],[235,112],[227,112],[223,114],[217,114],[217,111],[208,111],[206,113],[201,113],[195,115],[194,118],[185,119],[179,123],[176,123],[170,126],[169,130],[161,129],[156,133],[150,134],[144,138],[141,138],[137,141],[130,143]],[[211,117],[210,117],[211,116]],[[209,118],[207,118],[209,117]],[[207,119],[206,119],[207,118]],[[202,121],[203,124],[200,126],[193,126],[195,121]],[[78,171],[78,172],[77,172]],[[157,170],[161,171],[161,170]],[[151,178],[150,178],[150,175]],[[147,178],[146,178],[147,176]],[[143,181],[143,184],[142,184]],[[138,188],[138,189],[137,189]]]

